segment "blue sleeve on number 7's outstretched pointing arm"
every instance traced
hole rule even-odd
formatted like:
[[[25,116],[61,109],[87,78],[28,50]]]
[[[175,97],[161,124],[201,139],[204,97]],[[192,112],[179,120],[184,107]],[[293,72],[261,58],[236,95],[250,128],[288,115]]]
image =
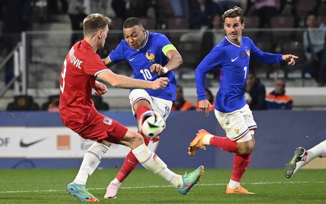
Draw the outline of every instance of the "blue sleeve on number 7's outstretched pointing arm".
[[[268,52],[261,51],[253,41],[250,39],[251,49],[250,57],[254,60],[259,61],[260,63],[273,64],[282,62],[282,54],[272,54]]]

